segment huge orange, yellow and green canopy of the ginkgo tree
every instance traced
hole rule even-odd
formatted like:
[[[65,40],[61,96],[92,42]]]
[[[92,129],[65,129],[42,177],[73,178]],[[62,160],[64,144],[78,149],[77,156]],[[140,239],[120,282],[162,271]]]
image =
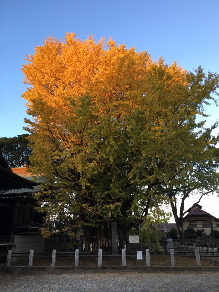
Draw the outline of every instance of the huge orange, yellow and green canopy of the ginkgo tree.
[[[23,94],[32,117],[25,119],[35,166],[29,171],[42,173],[39,211],[47,226],[58,216],[66,230],[75,218],[88,243],[109,237],[112,220],[121,242],[128,226],[161,222],[166,190],[182,186],[194,161],[207,164],[203,153],[213,160],[209,148],[218,142],[195,122],[213,100],[217,74],[155,62],[112,39],[104,45],[92,36],[49,37],[22,69],[30,85]]]

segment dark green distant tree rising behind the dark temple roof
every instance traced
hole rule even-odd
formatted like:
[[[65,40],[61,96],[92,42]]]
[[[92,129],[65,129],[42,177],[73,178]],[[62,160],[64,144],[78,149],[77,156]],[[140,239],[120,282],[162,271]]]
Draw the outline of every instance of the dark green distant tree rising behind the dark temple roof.
[[[11,167],[23,167],[30,165],[29,156],[32,155],[32,149],[28,147],[29,141],[26,137],[29,134],[22,134],[13,138],[0,138],[0,150]]]

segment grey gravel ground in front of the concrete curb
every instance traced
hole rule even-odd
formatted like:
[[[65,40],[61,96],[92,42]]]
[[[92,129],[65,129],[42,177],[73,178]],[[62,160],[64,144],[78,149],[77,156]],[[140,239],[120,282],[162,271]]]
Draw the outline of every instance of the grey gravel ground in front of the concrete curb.
[[[0,276],[1,292],[218,292],[219,273],[81,273]]]

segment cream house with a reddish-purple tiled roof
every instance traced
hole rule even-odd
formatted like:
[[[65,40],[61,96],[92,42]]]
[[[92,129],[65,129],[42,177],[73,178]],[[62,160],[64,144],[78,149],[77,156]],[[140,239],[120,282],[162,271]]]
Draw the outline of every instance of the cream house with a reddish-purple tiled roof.
[[[189,213],[183,218],[183,231],[188,227],[192,227],[195,230],[199,229],[205,231],[206,235],[210,235],[212,228],[218,230],[218,218],[203,211],[201,208],[202,207],[197,204],[189,210]]]

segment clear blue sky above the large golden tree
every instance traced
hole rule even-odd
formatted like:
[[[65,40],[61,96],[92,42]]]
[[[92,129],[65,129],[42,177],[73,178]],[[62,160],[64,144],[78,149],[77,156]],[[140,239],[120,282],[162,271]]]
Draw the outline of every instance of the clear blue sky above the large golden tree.
[[[146,50],[154,60],[163,56],[185,69],[202,65],[219,72],[219,1],[1,1],[0,6],[0,137],[24,133],[25,91],[21,72],[25,54],[34,53],[51,36],[63,40],[74,32],[84,40],[112,36],[117,44]],[[208,124],[218,109],[207,107]]]

